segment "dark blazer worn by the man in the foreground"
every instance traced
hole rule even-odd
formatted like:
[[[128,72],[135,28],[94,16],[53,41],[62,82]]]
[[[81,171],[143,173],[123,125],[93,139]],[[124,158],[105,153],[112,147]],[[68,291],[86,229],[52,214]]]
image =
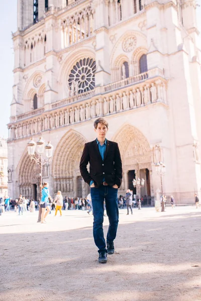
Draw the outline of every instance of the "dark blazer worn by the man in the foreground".
[[[89,163],[89,172],[87,164]],[[79,164],[82,178],[88,185],[90,181],[94,181],[94,185],[98,188],[105,178],[108,185],[117,184],[120,188],[122,184],[122,160],[118,143],[107,139],[104,161],[100,156],[96,140],[85,143],[82,157]]]

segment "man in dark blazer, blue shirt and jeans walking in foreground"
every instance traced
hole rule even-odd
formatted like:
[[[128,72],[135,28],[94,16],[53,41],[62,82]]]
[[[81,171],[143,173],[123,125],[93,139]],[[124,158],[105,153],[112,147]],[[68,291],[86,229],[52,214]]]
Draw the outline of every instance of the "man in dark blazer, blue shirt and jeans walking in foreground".
[[[93,206],[93,238],[98,248],[98,262],[106,263],[107,253],[114,254],[115,252],[114,239],[119,222],[117,194],[122,183],[122,161],[118,144],[106,139],[108,122],[104,118],[94,121],[94,131],[97,138],[85,143],[79,168],[82,178],[90,186]],[[87,171],[88,162],[89,172]],[[107,248],[103,232],[104,200],[110,221]]]

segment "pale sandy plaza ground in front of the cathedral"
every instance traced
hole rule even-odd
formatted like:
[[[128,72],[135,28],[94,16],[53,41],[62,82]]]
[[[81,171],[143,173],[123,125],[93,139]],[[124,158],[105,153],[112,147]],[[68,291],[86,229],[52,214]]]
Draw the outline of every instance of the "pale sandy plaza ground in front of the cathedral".
[[[97,262],[92,216],[62,213],[47,224],[38,212],[0,216],[1,301],[201,300],[201,209],[120,210],[107,264]]]

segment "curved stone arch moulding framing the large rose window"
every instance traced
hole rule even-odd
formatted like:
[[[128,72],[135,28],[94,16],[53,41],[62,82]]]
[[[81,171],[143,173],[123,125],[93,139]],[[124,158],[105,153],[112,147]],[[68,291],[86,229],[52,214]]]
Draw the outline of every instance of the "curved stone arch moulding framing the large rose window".
[[[82,47],[79,50],[74,50],[65,58],[58,73],[59,99],[63,99],[68,96],[67,83],[70,71],[77,61],[84,58],[92,58],[95,60],[95,52],[91,47]]]

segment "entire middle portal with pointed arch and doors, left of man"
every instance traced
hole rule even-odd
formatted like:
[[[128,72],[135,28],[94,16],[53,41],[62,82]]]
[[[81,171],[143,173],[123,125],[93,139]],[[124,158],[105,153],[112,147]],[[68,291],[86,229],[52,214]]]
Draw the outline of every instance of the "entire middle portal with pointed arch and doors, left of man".
[[[88,185],[80,178],[79,172],[79,162],[86,142],[84,136],[72,129],[61,138],[52,161],[54,193],[60,190],[67,197],[87,195]]]

